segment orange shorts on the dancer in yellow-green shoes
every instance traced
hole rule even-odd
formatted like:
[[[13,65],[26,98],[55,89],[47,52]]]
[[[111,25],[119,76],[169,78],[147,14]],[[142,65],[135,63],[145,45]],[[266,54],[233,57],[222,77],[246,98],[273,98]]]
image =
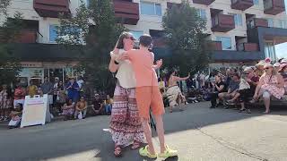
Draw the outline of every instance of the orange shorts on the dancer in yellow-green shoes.
[[[150,108],[154,115],[164,114],[164,106],[159,87],[147,86],[135,88],[135,97],[140,117],[149,119]]]

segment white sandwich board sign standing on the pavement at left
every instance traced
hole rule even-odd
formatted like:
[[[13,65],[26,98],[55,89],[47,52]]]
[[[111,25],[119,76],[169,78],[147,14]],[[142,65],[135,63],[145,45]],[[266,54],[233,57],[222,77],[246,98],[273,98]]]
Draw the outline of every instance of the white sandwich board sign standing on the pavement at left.
[[[48,95],[26,96],[22,111],[21,128],[25,126],[45,124],[50,122]]]

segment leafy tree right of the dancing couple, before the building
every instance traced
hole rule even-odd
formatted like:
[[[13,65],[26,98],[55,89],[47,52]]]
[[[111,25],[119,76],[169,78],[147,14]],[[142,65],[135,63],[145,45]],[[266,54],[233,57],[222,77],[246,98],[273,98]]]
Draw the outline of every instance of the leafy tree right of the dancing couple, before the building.
[[[204,51],[206,21],[199,17],[188,1],[173,5],[163,16],[162,26],[171,56],[165,60],[168,69],[177,67],[179,73],[195,73],[207,63]]]

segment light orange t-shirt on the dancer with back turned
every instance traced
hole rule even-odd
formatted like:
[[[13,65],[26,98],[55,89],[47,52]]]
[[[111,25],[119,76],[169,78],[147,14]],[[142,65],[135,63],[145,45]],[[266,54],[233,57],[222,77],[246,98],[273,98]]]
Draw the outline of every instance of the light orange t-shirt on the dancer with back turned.
[[[129,50],[126,52],[132,63],[136,87],[159,86],[158,77],[152,67],[154,55],[152,52]]]

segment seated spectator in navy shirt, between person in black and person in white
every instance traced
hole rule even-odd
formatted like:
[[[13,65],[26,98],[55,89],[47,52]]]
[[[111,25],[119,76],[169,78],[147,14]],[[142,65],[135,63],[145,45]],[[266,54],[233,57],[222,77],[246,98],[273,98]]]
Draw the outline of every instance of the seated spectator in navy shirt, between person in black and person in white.
[[[232,75],[232,80],[230,81],[230,85],[228,86],[228,91],[227,92],[222,92],[218,94],[218,97],[225,102],[226,99],[230,99],[236,96],[236,94],[239,91],[239,74],[234,73]],[[225,106],[225,108],[228,108],[228,106]]]

